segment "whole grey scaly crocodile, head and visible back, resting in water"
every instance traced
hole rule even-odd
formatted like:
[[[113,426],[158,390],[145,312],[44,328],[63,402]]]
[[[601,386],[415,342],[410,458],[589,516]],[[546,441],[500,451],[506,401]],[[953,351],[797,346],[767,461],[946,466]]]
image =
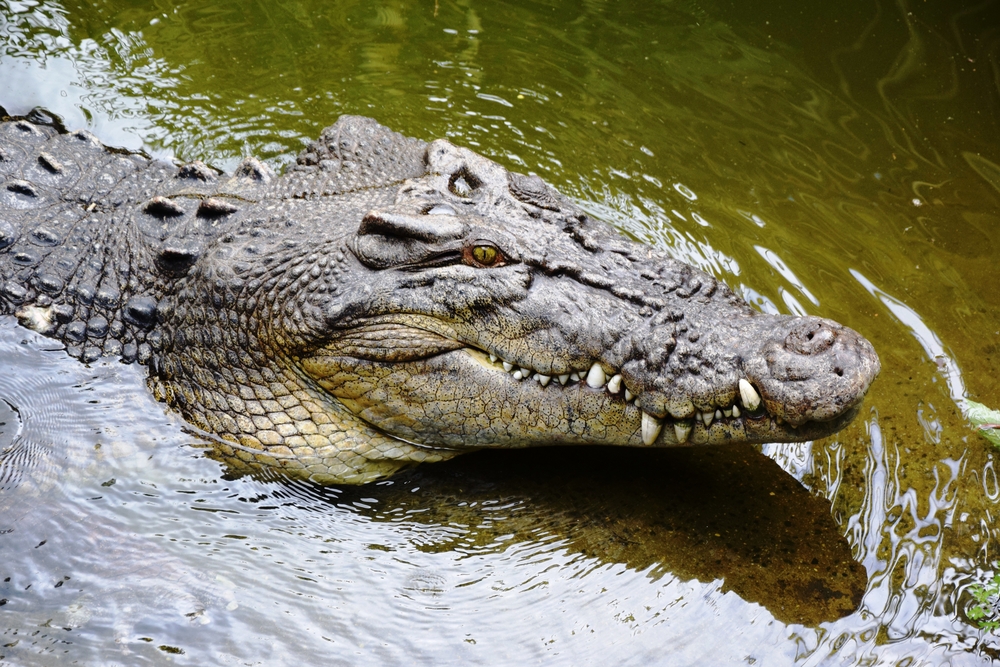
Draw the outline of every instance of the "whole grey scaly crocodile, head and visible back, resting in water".
[[[0,181],[0,313],[146,364],[233,462],[362,482],[482,447],[798,441],[879,370],[850,329],[364,118],[280,178],[8,122]]]

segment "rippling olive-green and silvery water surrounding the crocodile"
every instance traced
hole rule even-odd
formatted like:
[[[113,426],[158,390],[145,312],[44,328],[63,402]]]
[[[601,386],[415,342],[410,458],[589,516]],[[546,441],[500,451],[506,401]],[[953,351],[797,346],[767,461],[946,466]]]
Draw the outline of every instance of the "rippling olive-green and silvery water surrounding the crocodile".
[[[0,107],[276,165],[339,114],[470,146],[883,371],[802,445],[231,479],[0,323],[0,665],[979,665],[1000,558],[1000,3],[0,0]],[[752,5],[752,6],[751,6]],[[762,450],[762,453],[761,451]]]

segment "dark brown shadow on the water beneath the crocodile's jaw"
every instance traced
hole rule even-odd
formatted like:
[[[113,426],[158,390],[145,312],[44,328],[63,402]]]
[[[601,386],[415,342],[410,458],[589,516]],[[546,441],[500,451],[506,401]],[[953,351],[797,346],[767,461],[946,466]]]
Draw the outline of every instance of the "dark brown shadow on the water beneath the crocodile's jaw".
[[[723,590],[785,623],[846,616],[867,584],[827,501],[749,446],[486,451],[375,487],[292,487],[373,520],[461,528],[429,550],[555,538],[571,552],[653,577],[722,579]]]

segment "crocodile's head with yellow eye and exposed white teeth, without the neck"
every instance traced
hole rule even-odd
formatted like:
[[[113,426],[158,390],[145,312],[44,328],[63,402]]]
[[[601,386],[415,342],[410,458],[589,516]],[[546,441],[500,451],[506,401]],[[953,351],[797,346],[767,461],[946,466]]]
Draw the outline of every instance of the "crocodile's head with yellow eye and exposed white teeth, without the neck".
[[[466,449],[801,441],[879,371],[830,320],[761,314],[536,176],[440,140],[364,212],[356,283],[311,301],[301,369],[394,438]]]

